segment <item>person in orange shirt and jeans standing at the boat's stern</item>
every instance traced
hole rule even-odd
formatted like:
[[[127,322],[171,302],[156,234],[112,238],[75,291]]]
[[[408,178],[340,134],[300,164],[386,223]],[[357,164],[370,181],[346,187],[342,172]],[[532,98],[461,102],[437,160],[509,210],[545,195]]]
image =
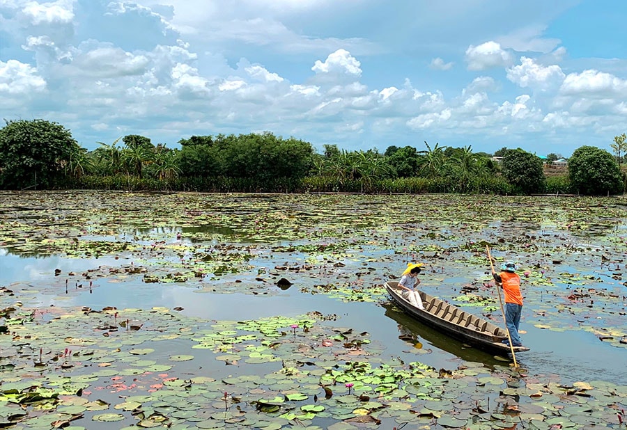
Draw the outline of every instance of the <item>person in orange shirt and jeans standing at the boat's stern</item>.
[[[522,294],[520,294],[520,276],[516,272],[516,264],[505,262],[501,264],[501,273],[492,270],[495,281],[500,282],[505,293],[505,325],[509,331],[511,344],[514,347],[522,347],[518,326],[520,325],[520,314],[522,314]],[[507,340],[504,344],[509,344]]]

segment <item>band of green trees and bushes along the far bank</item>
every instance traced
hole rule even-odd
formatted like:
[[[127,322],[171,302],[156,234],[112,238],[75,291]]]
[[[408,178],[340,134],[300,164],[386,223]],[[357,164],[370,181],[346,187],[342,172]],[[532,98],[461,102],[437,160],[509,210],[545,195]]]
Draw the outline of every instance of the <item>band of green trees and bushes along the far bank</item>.
[[[11,120],[0,129],[0,189],[608,195],[625,189],[625,141],[614,138],[614,156],[582,146],[563,174],[547,175],[545,161],[520,148],[487,154],[425,141],[424,150],[324,145],[319,154],[265,132],[191,136],[180,150],[131,134],[88,151],[56,122]]]

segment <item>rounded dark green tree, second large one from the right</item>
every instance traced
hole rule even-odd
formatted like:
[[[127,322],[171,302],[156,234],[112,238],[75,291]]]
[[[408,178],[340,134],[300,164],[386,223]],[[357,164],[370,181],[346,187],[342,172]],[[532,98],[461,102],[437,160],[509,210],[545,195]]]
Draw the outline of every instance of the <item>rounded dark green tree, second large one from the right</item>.
[[[529,194],[544,191],[545,176],[542,160],[520,148],[507,150],[503,156],[503,176],[518,191]]]

